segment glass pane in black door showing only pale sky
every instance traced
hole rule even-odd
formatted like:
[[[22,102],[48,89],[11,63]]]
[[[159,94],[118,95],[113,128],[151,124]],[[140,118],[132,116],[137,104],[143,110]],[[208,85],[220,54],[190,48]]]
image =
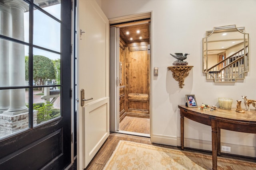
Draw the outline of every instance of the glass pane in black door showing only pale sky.
[[[60,23],[34,10],[34,45],[60,52]]]

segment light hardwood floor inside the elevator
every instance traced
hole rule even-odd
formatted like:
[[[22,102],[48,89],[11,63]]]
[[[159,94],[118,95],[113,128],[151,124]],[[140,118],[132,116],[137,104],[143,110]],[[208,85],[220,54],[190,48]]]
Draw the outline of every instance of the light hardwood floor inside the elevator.
[[[119,130],[150,134],[150,119],[126,116],[120,122]]]

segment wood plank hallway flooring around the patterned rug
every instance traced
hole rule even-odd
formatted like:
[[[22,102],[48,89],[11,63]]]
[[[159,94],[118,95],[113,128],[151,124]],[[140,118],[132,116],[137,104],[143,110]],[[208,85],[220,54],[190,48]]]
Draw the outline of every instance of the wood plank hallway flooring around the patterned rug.
[[[161,145],[161,144],[154,144],[150,142],[150,138],[147,137],[139,137],[139,136],[134,136],[134,135],[126,135],[126,134],[120,134],[120,133],[110,133],[110,136],[108,139],[105,141],[105,143],[102,145],[100,150],[97,152],[97,154],[94,156],[90,164],[86,167],[85,170],[102,170],[106,163],[108,162],[110,156],[116,149],[116,146],[120,140],[123,141],[132,141],[136,143],[144,143],[148,145],[155,145],[159,147],[166,147],[170,149],[178,149],[180,150],[180,147],[175,147],[175,146],[169,146],[169,145]],[[199,152],[202,154],[209,154],[212,155],[211,151],[207,150],[198,150],[198,149],[189,149],[189,148],[184,148],[186,151],[190,152]],[[246,157],[246,156],[239,156],[239,155],[231,155],[231,154],[221,154],[222,157],[226,158],[234,158],[238,160],[246,160],[250,162],[256,162],[255,158],[252,157]],[[69,170],[76,170],[76,161],[74,162],[73,166]]]

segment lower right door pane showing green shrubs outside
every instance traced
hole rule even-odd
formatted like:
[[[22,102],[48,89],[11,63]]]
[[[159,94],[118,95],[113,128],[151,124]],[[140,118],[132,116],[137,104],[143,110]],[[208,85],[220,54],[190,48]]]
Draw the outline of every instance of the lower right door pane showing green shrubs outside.
[[[34,126],[60,117],[60,87],[34,88],[33,110]]]

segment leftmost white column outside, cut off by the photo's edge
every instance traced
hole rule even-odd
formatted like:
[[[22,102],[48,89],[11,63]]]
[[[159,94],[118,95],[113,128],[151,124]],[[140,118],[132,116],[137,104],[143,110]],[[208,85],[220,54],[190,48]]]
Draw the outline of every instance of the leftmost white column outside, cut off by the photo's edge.
[[[10,8],[0,2],[0,34],[10,37]],[[0,87],[10,85],[10,42],[0,39]],[[0,90],[0,113],[10,107],[10,90]]]

